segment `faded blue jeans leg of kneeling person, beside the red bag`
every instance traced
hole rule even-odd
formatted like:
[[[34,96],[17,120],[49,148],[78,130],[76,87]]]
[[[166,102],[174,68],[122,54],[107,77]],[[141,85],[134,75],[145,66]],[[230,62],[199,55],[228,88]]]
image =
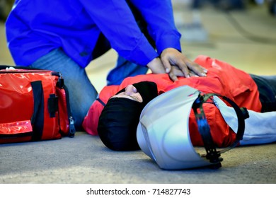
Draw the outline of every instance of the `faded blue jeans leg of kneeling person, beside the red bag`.
[[[85,69],[67,57],[60,49],[52,50],[45,56],[40,57],[31,66],[62,73],[64,83],[69,90],[71,112],[76,130],[83,131],[81,124],[89,107],[98,95],[96,88],[88,79]]]

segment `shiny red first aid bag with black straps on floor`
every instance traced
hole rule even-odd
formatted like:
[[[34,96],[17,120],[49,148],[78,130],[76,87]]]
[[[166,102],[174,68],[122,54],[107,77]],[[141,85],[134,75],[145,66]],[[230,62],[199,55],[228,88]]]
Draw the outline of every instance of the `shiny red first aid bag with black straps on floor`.
[[[0,66],[0,144],[74,137],[62,74]]]

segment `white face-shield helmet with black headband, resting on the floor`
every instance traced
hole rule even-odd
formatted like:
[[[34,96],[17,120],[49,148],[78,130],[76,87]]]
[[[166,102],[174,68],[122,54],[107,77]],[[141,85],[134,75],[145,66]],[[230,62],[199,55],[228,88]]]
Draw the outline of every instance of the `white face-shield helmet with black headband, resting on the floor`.
[[[238,144],[244,132],[246,109],[240,109],[229,98],[223,97],[235,109],[238,117],[236,142],[223,151],[217,151],[209,133],[202,103],[216,94],[202,95],[190,86],[181,86],[163,93],[151,100],[143,109],[137,127],[137,141],[144,153],[151,157],[160,168],[168,170],[197,168],[212,165],[221,167],[220,154]],[[195,110],[197,126],[207,154],[200,155],[192,146],[189,134],[189,116]],[[242,111],[245,110],[245,113]],[[200,113],[197,113],[200,112]]]

